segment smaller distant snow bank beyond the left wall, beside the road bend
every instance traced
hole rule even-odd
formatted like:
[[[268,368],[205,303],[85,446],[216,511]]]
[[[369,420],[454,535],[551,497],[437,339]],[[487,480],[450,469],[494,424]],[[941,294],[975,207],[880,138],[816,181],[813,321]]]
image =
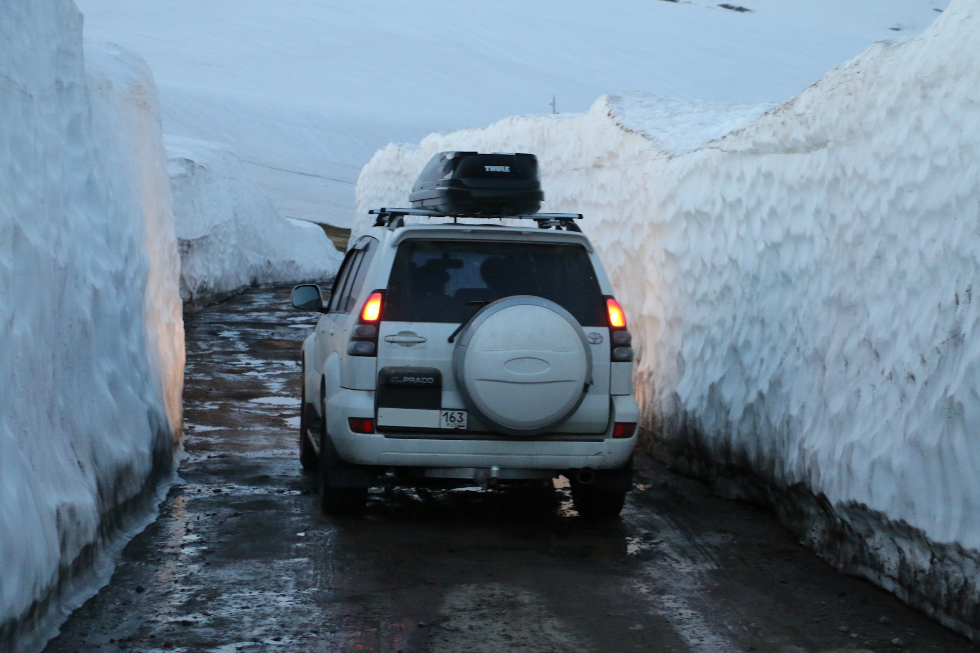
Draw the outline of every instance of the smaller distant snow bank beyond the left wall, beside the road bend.
[[[180,297],[333,276],[343,255],[312,222],[282,217],[219,143],[166,136],[180,248]]]

